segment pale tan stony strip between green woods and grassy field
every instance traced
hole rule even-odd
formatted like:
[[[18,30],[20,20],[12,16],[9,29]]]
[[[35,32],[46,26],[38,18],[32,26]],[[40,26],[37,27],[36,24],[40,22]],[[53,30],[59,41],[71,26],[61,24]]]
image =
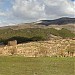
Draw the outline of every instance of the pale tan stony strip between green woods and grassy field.
[[[22,55],[25,57],[75,56],[75,48],[73,48],[73,54],[68,54],[68,48],[71,44],[75,47],[74,39],[59,39],[3,46],[0,47],[0,55]]]

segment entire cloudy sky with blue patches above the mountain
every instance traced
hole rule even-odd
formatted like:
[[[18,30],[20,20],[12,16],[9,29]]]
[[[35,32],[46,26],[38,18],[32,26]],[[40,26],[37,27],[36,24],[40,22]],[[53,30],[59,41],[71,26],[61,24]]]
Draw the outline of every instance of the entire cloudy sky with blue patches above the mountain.
[[[75,18],[75,0],[0,0],[0,27],[60,17]]]

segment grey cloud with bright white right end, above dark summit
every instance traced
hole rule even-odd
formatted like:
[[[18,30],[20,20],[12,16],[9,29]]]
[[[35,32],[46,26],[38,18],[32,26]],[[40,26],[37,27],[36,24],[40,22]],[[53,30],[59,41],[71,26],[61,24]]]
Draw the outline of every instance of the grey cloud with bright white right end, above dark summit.
[[[46,14],[55,15],[57,17],[68,16],[74,17],[74,3],[70,0],[44,0],[46,4]],[[54,18],[55,18],[54,16]]]

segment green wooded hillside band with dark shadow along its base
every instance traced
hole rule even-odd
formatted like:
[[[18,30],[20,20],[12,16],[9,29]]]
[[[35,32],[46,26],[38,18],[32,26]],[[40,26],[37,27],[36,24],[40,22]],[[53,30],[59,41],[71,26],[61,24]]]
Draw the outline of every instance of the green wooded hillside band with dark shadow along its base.
[[[18,43],[30,41],[44,41],[51,38],[74,38],[75,34],[62,28],[57,30],[54,28],[25,28],[19,30],[0,29],[0,41],[7,44],[9,40],[17,40]]]

